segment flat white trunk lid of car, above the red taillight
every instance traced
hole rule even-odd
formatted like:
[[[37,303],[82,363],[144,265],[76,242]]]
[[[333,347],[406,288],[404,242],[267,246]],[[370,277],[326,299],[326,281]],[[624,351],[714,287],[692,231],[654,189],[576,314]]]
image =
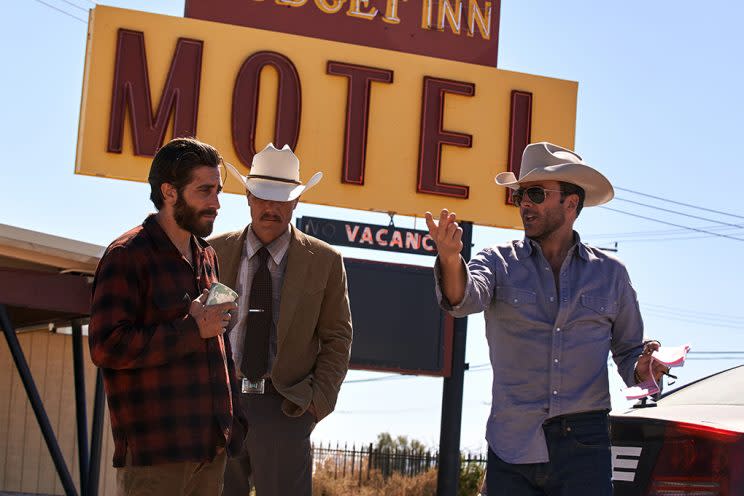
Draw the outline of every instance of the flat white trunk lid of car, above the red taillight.
[[[686,422],[716,429],[744,433],[744,406],[739,405],[669,405],[659,403],[651,408],[634,408],[624,412],[613,410],[617,418],[646,418]]]

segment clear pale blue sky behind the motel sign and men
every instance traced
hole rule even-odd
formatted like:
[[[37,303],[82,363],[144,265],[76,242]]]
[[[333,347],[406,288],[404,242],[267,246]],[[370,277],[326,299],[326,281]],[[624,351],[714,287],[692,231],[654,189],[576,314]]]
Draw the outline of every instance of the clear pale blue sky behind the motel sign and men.
[[[182,1],[108,5],[183,13]],[[0,223],[105,246],[153,207],[146,184],[73,173],[85,10],[93,6],[90,0],[5,5]],[[575,149],[612,181],[616,199],[609,208],[585,209],[576,229],[595,246],[617,243],[646,335],[664,345],[692,345],[672,388],[744,363],[743,15],[744,5],[733,1],[505,0],[501,9],[499,68],[579,83]],[[245,199],[223,195],[221,202],[215,232],[244,227]],[[305,204],[296,210],[301,215],[389,221],[382,213]],[[395,222],[424,227],[421,217],[398,216]],[[474,250],[521,236],[476,226]],[[371,250],[342,252],[390,258]],[[491,383],[480,316],[469,319],[466,361],[471,370],[465,375],[461,447],[480,452]],[[611,393],[613,406],[622,410],[628,403],[618,381],[611,381]],[[441,396],[441,378],[350,371],[336,412],[317,426],[313,439],[366,444],[390,432],[436,447]]]

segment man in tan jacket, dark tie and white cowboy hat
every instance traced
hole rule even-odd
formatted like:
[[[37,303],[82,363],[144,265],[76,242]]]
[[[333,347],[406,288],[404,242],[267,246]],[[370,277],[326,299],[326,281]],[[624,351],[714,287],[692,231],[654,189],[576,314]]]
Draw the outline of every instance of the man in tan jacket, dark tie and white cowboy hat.
[[[228,164],[229,165],[229,164]],[[248,419],[226,496],[312,494],[310,433],[331,413],[349,366],[351,312],[341,254],[290,225],[300,182],[292,150],[267,146],[244,177],[251,224],[210,240],[220,280],[239,293],[228,336]]]

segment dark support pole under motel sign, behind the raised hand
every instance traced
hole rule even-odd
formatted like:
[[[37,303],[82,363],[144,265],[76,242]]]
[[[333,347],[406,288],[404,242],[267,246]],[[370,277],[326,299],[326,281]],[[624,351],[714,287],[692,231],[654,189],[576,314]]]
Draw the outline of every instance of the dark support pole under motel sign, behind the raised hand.
[[[459,222],[462,228],[462,258],[470,260],[473,224]],[[439,433],[439,472],[437,496],[456,496],[460,482],[460,432],[462,428],[462,395],[465,381],[465,343],[468,318],[455,319],[452,343],[452,374],[442,387],[442,421]]]

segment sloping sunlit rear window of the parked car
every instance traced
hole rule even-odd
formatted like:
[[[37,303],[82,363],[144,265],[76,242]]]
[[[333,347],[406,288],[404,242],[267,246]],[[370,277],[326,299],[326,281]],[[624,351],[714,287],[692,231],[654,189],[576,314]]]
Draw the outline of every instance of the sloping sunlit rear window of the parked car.
[[[744,365],[701,379],[659,400],[669,405],[744,406]]]

